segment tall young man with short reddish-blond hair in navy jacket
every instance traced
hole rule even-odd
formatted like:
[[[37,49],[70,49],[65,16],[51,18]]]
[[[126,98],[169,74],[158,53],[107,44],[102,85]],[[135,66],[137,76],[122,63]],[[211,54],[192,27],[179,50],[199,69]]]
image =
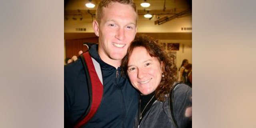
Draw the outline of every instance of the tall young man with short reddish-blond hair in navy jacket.
[[[99,44],[93,45],[89,53],[100,64],[103,96],[97,112],[83,128],[132,128],[138,93],[128,78],[120,76],[120,64],[135,38],[137,20],[132,0],[102,0],[99,3],[93,22]],[[85,75],[80,58],[64,66],[65,127],[74,127],[88,109],[90,97]]]

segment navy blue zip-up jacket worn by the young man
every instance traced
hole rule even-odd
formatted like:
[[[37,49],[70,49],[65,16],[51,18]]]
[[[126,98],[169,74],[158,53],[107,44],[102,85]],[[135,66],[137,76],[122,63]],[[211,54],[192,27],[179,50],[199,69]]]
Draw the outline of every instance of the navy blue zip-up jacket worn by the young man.
[[[89,53],[101,67],[103,97],[96,114],[83,128],[132,128],[138,109],[138,92],[128,78],[120,76],[116,69],[100,59],[98,45],[93,45]],[[116,78],[116,75],[118,77]],[[64,66],[64,126],[72,127],[88,108],[89,95],[85,72],[80,58]]]

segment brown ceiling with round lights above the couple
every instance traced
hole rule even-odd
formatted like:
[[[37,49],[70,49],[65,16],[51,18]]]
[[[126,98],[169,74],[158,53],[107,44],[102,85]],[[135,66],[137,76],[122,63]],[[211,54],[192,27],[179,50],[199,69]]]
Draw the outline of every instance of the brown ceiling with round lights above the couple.
[[[89,0],[64,0],[64,17],[72,19],[89,18],[95,16],[97,4],[100,0],[92,0],[96,4],[94,8],[86,8],[85,4]],[[150,14],[156,15],[161,18],[163,16],[172,16],[179,14],[182,11],[192,8],[192,0],[147,0],[150,3],[148,8],[140,6],[144,0],[134,0],[138,14],[142,17],[148,11]],[[190,11],[191,14],[192,10]]]

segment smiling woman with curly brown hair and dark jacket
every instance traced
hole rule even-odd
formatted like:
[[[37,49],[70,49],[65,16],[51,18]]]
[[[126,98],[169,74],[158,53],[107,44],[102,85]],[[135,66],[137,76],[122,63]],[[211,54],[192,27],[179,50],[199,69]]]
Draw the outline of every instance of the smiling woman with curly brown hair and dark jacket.
[[[136,38],[122,60],[122,69],[141,94],[134,128],[175,128],[169,94],[176,81],[176,68],[157,41],[144,35]],[[173,110],[179,128],[192,127],[192,89],[189,86],[176,86]]]

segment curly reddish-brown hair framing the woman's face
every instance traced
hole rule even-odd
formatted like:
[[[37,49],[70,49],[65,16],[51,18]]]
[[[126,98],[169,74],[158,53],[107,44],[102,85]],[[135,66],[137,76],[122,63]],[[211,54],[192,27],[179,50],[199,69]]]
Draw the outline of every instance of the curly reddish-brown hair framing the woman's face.
[[[122,74],[127,75],[130,55],[134,48],[140,46],[146,48],[151,57],[156,57],[159,62],[163,62],[164,64],[162,68],[164,77],[162,77],[159,86],[155,90],[155,97],[159,101],[165,101],[167,98],[166,95],[170,93],[174,82],[176,82],[177,68],[176,65],[172,63],[173,61],[171,61],[172,57],[168,57],[158,40],[147,35],[136,36],[134,41],[130,44],[126,56],[122,59]]]

